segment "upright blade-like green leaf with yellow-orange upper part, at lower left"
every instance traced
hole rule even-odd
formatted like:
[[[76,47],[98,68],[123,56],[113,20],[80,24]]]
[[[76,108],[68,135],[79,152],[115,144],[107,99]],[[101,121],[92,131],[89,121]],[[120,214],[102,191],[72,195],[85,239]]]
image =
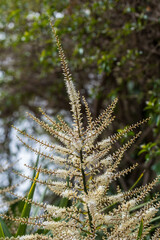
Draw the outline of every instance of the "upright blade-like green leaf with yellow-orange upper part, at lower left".
[[[34,190],[35,190],[35,186],[36,186],[36,180],[38,179],[39,176],[39,172],[36,174],[36,177],[34,178],[34,181],[32,183],[32,186],[30,188],[30,191],[28,193],[28,197],[27,199],[33,199],[33,194],[34,194]],[[22,214],[21,214],[21,218],[26,218],[29,217],[30,214],[30,210],[31,210],[31,204],[28,204],[27,202],[24,204],[23,210],[22,210]],[[25,235],[26,232],[26,228],[27,225],[26,224],[21,224],[18,227],[17,233],[16,233],[16,237],[17,236],[22,236]]]

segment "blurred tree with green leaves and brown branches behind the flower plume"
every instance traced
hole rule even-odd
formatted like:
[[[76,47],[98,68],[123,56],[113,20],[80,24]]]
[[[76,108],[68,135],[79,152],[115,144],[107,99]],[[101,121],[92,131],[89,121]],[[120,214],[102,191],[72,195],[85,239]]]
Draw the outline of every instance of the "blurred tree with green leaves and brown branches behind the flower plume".
[[[11,125],[23,126],[26,111],[38,115],[41,106],[67,116],[60,112],[69,105],[50,16],[94,117],[119,98],[109,134],[151,116],[137,141],[139,168],[129,181],[120,179],[121,187],[128,189],[143,170],[143,184],[160,173],[159,0],[1,0],[0,16],[1,161],[13,160]],[[135,163],[135,153],[125,154],[122,168]]]

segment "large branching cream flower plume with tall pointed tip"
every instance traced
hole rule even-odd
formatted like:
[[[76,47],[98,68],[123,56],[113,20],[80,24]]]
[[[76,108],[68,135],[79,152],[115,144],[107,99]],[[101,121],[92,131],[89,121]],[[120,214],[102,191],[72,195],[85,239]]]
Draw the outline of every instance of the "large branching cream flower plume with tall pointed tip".
[[[138,206],[138,204],[144,200],[147,194],[158,183],[159,178],[156,178],[148,185],[126,192],[117,188],[115,194],[109,193],[109,186],[117,178],[123,177],[138,165],[134,164],[124,170],[117,170],[125,151],[136,141],[141,132],[139,131],[114,152],[111,152],[112,146],[121,137],[141,126],[148,119],[126,127],[122,131],[108,136],[101,141],[97,141],[97,137],[114,119],[112,113],[117,99],[98,118],[93,120],[89,106],[83,97],[88,123],[86,129],[84,129],[80,94],[76,91],[73,84],[64,51],[52,23],[51,27],[56,39],[64,81],[71,104],[73,116],[72,127],[68,126],[61,117],[58,117],[59,122],[52,120],[51,117],[40,109],[40,112],[51,125],[40,121],[32,114],[28,115],[50,135],[58,139],[59,144],[52,144],[51,142],[37,139],[18,128],[15,129],[22,136],[47,148],[49,153],[33,148],[22,138],[18,137],[26,147],[36,154],[60,165],[59,169],[45,169],[43,167],[37,169],[26,165],[30,169],[38,170],[40,174],[48,175],[51,179],[47,182],[40,179],[35,181],[46,185],[56,195],[68,198],[72,204],[70,207],[61,208],[31,201],[32,204],[43,208],[45,213],[36,218],[15,218],[14,221],[41,226],[49,230],[51,235],[34,234],[22,236],[18,239],[96,240],[98,239],[98,234],[101,233],[102,240],[136,240],[142,219],[143,231],[141,239],[145,239],[149,235],[150,221],[153,221],[157,214],[160,202],[155,197],[144,205]],[[29,176],[18,174],[25,179],[32,180]],[[55,180],[55,177],[57,180]],[[11,190],[8,189],[10,192]],[[26,202],[29,201],[19,196],[17,198],[23,199]],[[9,216],[2,216],[7,219],[9,218]],[[156,230],[152,240],[157,240],[159,237],[160,231]]]

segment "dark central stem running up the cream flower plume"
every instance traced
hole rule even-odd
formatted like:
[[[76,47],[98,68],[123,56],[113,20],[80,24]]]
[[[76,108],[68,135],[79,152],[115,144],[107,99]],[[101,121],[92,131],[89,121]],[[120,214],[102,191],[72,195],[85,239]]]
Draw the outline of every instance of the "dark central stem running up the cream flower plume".
[[[83,154],[82,154],[82,149],[80,150],[80,161],[81,164],[83,163]],[[87,184],[86,184],[86,178],[85,178],[85,173],[84,173],[84,169],[81,165],[81,173],[82,173],[82,180],[83,180],[83,188],[84,188],[84,192],[88,195],[88,191],[87,191]],[[88,213],[88,220],[89,220],[89,226],[91,231],[93,230],[93,224],[92,224],[92,216],[90,214],[89,208],[87,206],[87,213]]]

